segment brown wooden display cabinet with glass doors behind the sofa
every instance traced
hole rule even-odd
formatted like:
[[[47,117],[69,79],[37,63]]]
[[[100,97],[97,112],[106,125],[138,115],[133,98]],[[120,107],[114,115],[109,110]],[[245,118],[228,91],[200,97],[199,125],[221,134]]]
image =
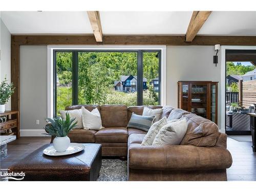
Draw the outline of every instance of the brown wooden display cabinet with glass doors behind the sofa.
[[[218,82],[178,81],[178,107],[218,123]]]

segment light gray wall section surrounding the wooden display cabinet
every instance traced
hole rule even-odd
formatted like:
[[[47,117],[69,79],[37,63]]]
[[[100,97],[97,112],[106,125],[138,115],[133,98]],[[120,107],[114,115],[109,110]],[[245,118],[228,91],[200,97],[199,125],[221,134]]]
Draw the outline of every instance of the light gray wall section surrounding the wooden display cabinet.
[[[218,125],[221,125],[221,54],[215,67],[214,46],[167,46],[166,49],[166,104],[178,106],[178,81],[210,80],[218,83]]]

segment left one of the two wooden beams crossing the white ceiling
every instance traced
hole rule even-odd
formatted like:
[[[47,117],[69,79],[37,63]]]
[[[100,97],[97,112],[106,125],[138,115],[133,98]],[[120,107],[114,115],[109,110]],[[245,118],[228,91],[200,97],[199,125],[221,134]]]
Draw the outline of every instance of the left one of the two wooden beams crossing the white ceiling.
[[[100,23],[99,11],[87,11],[93,33],[97,42],[102,42],[102,28]]]

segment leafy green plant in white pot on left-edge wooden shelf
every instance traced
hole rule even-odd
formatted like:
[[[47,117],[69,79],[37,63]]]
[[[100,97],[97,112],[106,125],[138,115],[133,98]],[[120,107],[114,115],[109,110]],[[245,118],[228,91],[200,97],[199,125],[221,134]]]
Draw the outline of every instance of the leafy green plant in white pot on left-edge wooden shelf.
[[[5,79],[0,84],[0,113],[5,112],[5,104],[14,93],[14,89],[13,83],[8,83],[5,76]]]

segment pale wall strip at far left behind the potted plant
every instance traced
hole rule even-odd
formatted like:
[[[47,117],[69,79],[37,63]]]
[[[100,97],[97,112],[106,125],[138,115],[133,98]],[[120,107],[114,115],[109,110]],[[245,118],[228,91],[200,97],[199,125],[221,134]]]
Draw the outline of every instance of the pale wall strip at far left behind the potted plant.
[[[1,25],[1,66],[0,66],[0,81],[3,81],[5,75],[7,80],[11,80],[11,34],[5,26],[2,19],[0,19]],[[11,99],[6,104],[6,110],[11,110]]]

